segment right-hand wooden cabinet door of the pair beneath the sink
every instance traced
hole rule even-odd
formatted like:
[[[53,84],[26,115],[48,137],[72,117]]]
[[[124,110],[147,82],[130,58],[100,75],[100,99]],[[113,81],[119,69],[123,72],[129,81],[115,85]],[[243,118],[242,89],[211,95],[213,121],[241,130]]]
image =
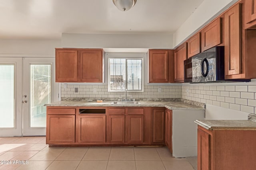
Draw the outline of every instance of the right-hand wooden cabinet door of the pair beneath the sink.
[[[144,115],[126,115],[127,143],[144,142]]]

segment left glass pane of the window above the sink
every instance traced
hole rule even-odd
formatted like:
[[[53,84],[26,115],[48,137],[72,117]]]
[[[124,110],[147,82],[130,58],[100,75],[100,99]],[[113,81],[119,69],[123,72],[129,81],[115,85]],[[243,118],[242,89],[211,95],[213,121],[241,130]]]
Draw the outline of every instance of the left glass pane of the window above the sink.
[[[126,84],[126,59],[109,59],[110,90],[125,90]]]

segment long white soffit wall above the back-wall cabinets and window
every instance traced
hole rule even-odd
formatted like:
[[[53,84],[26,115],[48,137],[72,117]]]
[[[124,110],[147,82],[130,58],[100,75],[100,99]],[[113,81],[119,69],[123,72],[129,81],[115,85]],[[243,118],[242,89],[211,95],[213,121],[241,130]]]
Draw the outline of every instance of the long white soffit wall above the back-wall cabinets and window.
[[[171,34],[74,34],[62,33],[62,47],[152,48],[173,47]],[[131,51],[132,52],[132,51]]]

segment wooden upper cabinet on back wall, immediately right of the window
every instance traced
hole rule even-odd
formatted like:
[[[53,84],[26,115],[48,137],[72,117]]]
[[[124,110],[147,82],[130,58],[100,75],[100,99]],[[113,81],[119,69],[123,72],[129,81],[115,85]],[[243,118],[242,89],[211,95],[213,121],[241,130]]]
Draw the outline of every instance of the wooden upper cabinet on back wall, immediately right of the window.
[[[173,82],[173,50],[149,49],[149,83]]]

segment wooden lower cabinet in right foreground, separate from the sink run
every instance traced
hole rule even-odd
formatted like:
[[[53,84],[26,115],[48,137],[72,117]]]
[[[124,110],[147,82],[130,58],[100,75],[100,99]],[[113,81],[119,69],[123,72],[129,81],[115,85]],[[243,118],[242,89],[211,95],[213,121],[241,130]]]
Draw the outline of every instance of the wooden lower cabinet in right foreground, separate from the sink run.
[[[256,131],[198,125],[198,170],[255,170]]]

